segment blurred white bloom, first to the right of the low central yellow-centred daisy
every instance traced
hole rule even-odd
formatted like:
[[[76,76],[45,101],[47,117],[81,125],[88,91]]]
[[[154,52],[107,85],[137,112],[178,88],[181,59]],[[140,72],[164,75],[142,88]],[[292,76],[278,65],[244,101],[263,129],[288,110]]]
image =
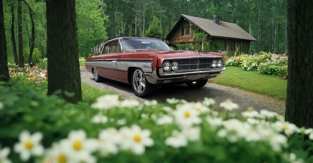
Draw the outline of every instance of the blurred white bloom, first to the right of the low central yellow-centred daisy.
[[[177,130],[172,131],[172,136],[165,139],[165,144],[173,148],[179,148],[187,146],[188,140],[185,134],[178,132]]]

